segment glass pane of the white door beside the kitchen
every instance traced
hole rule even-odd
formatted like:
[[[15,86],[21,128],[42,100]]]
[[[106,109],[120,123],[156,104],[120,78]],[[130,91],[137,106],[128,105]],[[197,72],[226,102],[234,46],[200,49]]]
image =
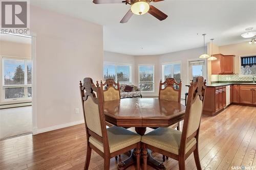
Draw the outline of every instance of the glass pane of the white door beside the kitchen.
[[[206,65],[204,60],[189,61],[189,81],[196,81],[198,76],[206,78]]]

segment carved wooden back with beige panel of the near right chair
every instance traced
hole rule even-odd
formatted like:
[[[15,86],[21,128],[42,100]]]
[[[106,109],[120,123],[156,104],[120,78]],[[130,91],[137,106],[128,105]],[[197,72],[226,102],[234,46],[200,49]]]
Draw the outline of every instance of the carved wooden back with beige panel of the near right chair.
[[[198,134],[203,112],[205,90],[206,80],[204,80],[202,76],[197,77],[195,83],[190,83],[181,135],[181,154],[185,154],[186,143],[189,142],[192,138],[195,137],[198,143]]]

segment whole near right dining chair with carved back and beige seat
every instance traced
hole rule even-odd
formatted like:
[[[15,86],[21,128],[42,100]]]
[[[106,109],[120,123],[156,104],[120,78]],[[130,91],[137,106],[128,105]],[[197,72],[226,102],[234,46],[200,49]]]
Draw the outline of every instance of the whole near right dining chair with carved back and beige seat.
[[[187,105],[182,132],[171,128],[158,128],[141,138],[143,169],[146,169],[146,149],[179,161],[179,169],[185,169],[185,160],[193,152],[197,169],[201,169],[198,136],[203,111],[206,81],[197,77],[188,89]]]

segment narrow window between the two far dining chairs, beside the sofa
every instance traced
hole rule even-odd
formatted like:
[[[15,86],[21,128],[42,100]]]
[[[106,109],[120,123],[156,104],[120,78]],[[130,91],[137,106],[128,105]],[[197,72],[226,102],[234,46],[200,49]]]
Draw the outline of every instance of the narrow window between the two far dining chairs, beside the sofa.
[[[139,86],[142,91],[154,91],[154,65],[139,65]]]

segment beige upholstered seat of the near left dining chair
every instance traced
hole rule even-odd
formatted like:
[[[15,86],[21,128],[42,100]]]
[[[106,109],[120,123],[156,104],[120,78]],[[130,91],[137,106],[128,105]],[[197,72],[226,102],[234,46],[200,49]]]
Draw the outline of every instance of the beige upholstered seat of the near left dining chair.
[[[110,127],[107,130],[109,138],[110,153],[118,151],[122,148],[129,147],[141,140],[141,136],[132,131],[126,130],[121,127]],[[103,143],[96,138],[90,136],[89,142],[95,145],[101,152],[104,153]]]

